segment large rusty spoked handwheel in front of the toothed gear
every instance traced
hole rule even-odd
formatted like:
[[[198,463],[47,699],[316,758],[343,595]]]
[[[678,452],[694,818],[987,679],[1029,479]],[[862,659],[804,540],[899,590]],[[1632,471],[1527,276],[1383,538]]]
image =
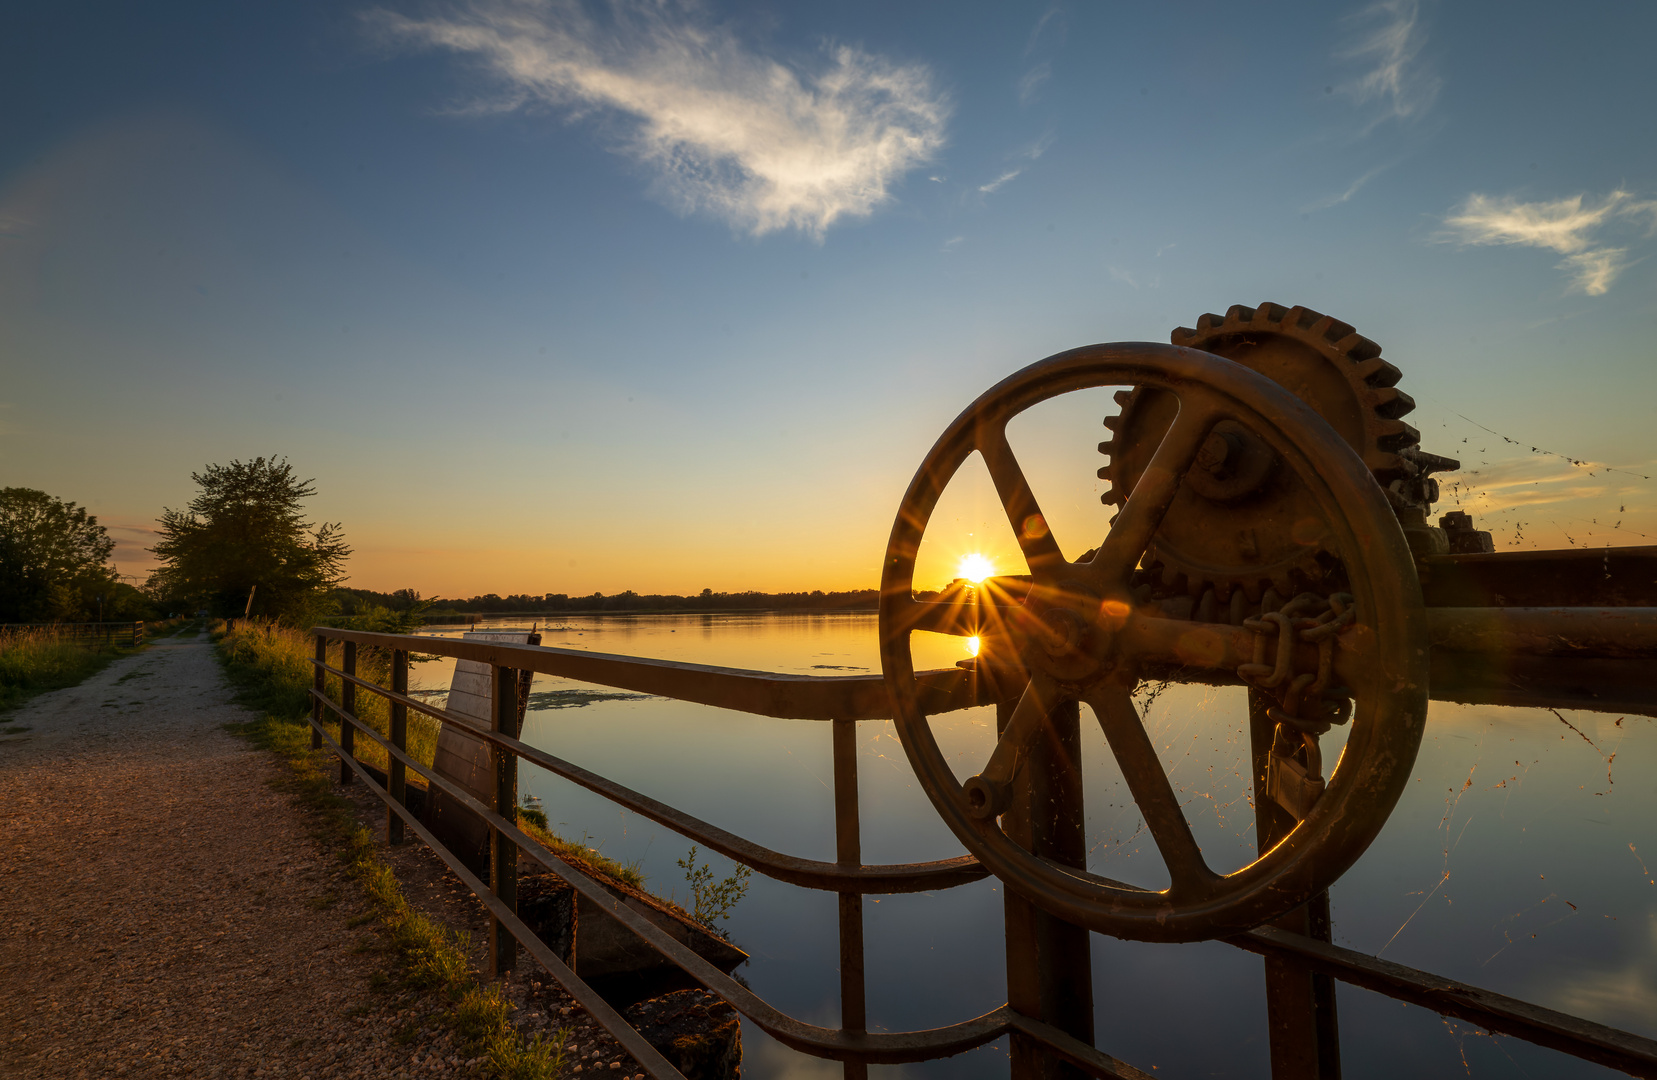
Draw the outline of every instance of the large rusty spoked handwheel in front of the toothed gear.
[[[1152,386],[1178,412],[1120,513],[1085,562],[1069,562],[1007,444],[1007,421],[1059,394],[1095,386]],[[1331,644],[1266,638],[1223,623],[1165,618],[1135,606],[1130,578],[1158,523],[1200,467],[1205,444],[1241,426],[1316,497],[1321,517],[1274,522],[1339,553],[1350,623]],[[1017,658],[1027,682],[983,770],[958,782],[915,687],[910,634],[936,624],[913,598],[915,557],[951,477],[978,452],[1029,563],[1031,588],[1006,610],[979,608],[986,641]],[[1213,451],[1210,449],[1208,454]],[[1080,550],[1080,548],[1077,548]],[[996,624],[988,624],[994,621]],[[1287,626],[1284,621],[1283,626]],[[1269,638],[1269,639],[1268,639]],[[880,656],[898,737],[938,813],[986,868],[1042,909],[1118,938],[1201,941],[1259,926],[1329,888],[1380,832],[1403,792],[1427,717],[1427,636],[1420,583],[1385,495],[1352,449],[1292,394],[1241,364],[1152,343],[1097,345],[1036,363],[974,401],[938,439],[898,507],[880,598]],[[1152,745],[1132,692],[1147,669],[1211,682],[1258,671],[1283,681],[1319,669],[1354,699],[1339,765],[1304,818],[1234,873],[1203,858]],[[1254,669],[1249,664],[1256,664]],[[1168,868],[1165,890],[1135,888],[1039,858],[1001,828],[1044,719],[1087,702]],[[1256,798],[1261,793],[1256,792]]]

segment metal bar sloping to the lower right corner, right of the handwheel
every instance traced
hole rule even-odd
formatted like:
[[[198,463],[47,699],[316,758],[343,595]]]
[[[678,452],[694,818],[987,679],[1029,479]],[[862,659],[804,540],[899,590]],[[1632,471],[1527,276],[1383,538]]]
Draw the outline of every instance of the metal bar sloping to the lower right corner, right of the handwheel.
[[[1394,964],[1379,956],[1316,941],[1276,926],[1261,926],[1226,941],[1263,956],[1291,956],[1342,982],[1470,1020],[1491,1032],[1564,1050],[1572,1057],[1609,1065],[1634,1077],[1657,1078],[1657,1040],[1632,1032],[1533,1005],[1457,979]]]

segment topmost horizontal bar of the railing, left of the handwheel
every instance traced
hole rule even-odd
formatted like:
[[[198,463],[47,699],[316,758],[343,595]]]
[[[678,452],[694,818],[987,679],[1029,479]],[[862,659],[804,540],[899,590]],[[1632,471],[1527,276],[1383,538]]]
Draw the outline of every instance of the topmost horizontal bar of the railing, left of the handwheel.
[[[880,676],[797,676],[742,668],[714,668],[679,661],[553,649],[540,644],[373,634],[358,629],[315,626],[312,633],[333,641],[355,641],[383,649],[408,649],[452,656],[497,668],[562,676],[578,682],[615,686],[641,694],[676,697],[703,706],[736,709],[787,721],[888,721],[891,702]],[[976,701],[971,673],[941,668],[915,676],[928,714],[966,709]]]

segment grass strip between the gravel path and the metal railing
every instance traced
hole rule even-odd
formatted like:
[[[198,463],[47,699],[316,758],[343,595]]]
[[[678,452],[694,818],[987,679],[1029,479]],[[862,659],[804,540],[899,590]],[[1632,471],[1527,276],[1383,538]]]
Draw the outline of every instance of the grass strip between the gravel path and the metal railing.
[[[482,1073],[499,1080],[552,1080],[565,1072],[568,1030],[553,1037],[525,1039],[510,1020],[512,1004],[499,984],[481,984],[467,962],[469,941],[456,934],[403,894],[403,886],[388,865],[374,856],[371,833],[351,815],[351,803],[333,793],[331,755],[312,752],[307,724],[310,686],[310,638],[278,626],[240,623],[224,634],[219,651],[239,699],[262,712],[247,724],[230,724],[230,730],[257,747],[272,752],[287,765],[282,782],[295,802],[312,813],[316,838],[338,853],[348,873],[363,888],[373,919],[394,957],[394,977],[379,976],[376,989],[401,989],[442,994],[447,999],[447,1024],[471,1052],[482,1057]],[[363,666],[360,664],[360,671]],[[368,676],[365,676],[368,677]],[[331,679],[335,692],[338,681]],[[358,704],[368,694],[358,694]],[[409,742],[414,739],[409,717]],[[366,740],[365,740],[366,742]],[[436,732],[431,734],[432,749]],[[366,760],[365,747],[358,744]],[[384,752],[381,750],[381,757]],[[429,752],[424,760],[431,760]]]

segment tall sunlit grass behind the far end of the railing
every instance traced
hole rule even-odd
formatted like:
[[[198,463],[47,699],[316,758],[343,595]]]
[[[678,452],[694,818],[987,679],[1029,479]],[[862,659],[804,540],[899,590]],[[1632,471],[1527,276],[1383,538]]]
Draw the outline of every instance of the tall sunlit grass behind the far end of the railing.
[[[280,626],[277,623],[260,623],[257,620],[237,620],[235,626],[225,633],[219,624],[219,651],[224,656],[230,677],[240,687],[244,704],[262,709],[273,717],[290,719],[303,724],[310,714],[310,687],[313,677],[312,656],[315,654],[315,638],[303,629]],[[345,646],[331,643],[328,646],[328,664],[345,666]],[[376,686],[391,686],[391,654],[384,649],[360,648],[356,651],[356,676]],[[330,701],[340,701],[340,679],[326,676],[323,692]],[[373,691],[356,687],[356,717],[384,737],[391,737],[391,702]],[[340,737],[340,724],[333,712],[323,709],[323,727],[335,739]],[[408,752],[421,765],[431,767],[437,754],[437,730],[441,724],[429,716],[409,711]],[[358,739],[356,759],[378,769],[389,767],[389,755],[373,739]],[[414,777],[413,782],[421,783]]]

